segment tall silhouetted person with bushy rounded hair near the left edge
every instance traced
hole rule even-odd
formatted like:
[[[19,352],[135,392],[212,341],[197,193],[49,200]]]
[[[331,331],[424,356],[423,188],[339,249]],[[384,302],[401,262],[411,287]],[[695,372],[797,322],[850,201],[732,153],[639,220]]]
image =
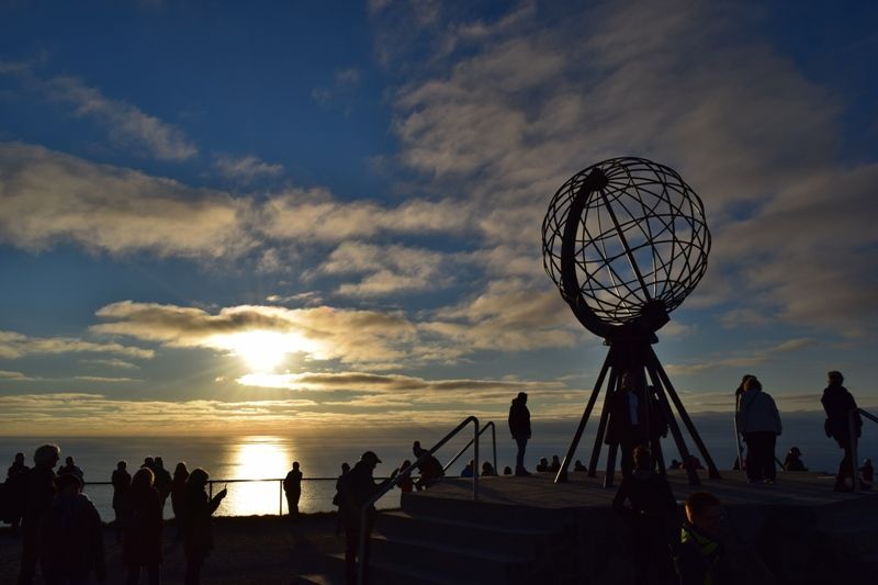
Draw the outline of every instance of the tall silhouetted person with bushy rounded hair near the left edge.
[[[19,584],[30,585],[36,573],[40,519],[55,497],[55,465],[61,450],[57,445],[43,445],[34,452],[34,466],[27,472],[27,487],[22,516],[22,553]]]

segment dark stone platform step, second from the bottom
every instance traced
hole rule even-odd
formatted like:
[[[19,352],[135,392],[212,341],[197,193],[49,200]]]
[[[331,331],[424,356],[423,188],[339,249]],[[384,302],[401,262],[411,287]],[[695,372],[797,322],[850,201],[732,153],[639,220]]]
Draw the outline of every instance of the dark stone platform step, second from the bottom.
[[[502,527],[441,516],[412,516],[402,510],[379,514],[375,531],[392,539],[428,538],[439,544],[511,553],[520,558],[533,558],[547,539],[559,533],[543,528]]]

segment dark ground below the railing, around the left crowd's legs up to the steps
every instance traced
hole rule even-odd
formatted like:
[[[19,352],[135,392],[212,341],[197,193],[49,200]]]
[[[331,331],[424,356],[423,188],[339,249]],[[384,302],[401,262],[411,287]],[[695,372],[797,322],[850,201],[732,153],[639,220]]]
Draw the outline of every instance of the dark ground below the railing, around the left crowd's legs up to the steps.
[[[12,536],[8,525],[0,528],[0,584],[14,584],[21,559],[21,540]],[[320,570],[322,559],[342,551],[345,537],[335,535],[335,514],[303,515],[291,524],[277,516],[219,517],[214,519],[215,549],[204,564],[205,584],[277,583],[290,584],[300,573]],[[175,543],[177,528],[165,527],[161,578],[165,583],[182,583],[185,559],[181,543]],[[123,583],[122,545],[115,530],[104,531],[108,583]],[[140,576],[146,583],[145,575]],[[37,577],[37,583],[42,583]]]

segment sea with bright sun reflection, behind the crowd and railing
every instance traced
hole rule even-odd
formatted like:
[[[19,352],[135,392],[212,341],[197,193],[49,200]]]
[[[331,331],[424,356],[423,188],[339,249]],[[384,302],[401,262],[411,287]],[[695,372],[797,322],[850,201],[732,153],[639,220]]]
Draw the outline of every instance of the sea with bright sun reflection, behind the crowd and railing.
[[[734,426],[731,417],[719,414],[693,416],[696,427],[708,451],[720,471],[731,469],[735,461]],[[823,413],[792,413],[784,415],[784,434],[778,437],[776,455],[783,460],[791,447],[802,451],[802,460],[811,471],[833,473],[842,458],[835,441],[823,432]],[[563,459],[570,446],[578,419],[554,419],[532,421],[532,439],[527,448],[527,466],[536,468],[540,458],[551,460],[558,454]],[[12,463],[16,452],[24,452],[32,464],[33,451],[40,445],[54,442],[61,449],[61,460],[71,455],[85,472],[86,494],[94,502],[101,517],[113,518],[111,507],[112,487],[101,485],[109,482],[116,462],[125,460],[133,473],[146,457],[160,455],[168,471],[173,472],[177,462],[183,461],[192,470],[202,468],[210,474],[211,490],[227,487],[228,496],[217,509],[223,516],[277,515],[286,513],[282,497],[281,479],[299,461],[304,480],[300,511],[316,513],[335,509],[336,479],[342,462],[356,463],[363,451],[373,450],[382,462],[375,476],[386,476],[405,460],[413,460],[412,443],[419,440],[424,447],[437,443],[453,427],[410,428],[340,428],[336,431],[307,432],[291,430],[283,435],[229,435],[229,436],[160,436],[160,437],[57,437],[41,434],[33,437],[0,437],[0,464]],[[574,459],[587,464],[594,446],[596,418],[589,420]],[[496,464],[499,471],[515,464],[515,442],[505,420],[496,421]],[[864,458],[878,455],[878,427],[864,428],[858,454]],[[473,437],[466,428],[438,452],[439,460],[447,464]],[[688,438],[688,448],[697,453]],[[666,461],[682,459],[668,435],[663,440]],[[604,465],[606,448],[601,450]],[[472,448],[466,449],[449,468],[449,475],[459,475],[472,459]],[[700,455],[699,455],[700,458]],[[494,462],[494,442],[488,428],[480,440],[480,461]],[[702,459],[703,460],[703,459]],[[572,465],[571,465],[572,469]],[[600,468],[603,469],[603,466]],[[245,481],[246,480],[246,481]],[[783,481],[783,474],[779,477]],[[828,484],[829,485],[829,484]],[[399,491],[393,490],[379,503],[379,508],[395,508],[399,505]],[[171,517],[170,504],[165,510]]]

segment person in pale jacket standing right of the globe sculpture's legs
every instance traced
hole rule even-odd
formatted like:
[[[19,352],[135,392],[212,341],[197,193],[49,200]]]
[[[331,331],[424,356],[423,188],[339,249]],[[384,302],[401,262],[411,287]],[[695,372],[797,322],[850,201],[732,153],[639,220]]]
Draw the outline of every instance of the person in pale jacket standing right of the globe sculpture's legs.
[[[762,391],[762,383],[755,375],[744,382],[738,429],[747,443],[747,481],[775,483],[775,443],[783,431],[780,415],[774,398]]]

